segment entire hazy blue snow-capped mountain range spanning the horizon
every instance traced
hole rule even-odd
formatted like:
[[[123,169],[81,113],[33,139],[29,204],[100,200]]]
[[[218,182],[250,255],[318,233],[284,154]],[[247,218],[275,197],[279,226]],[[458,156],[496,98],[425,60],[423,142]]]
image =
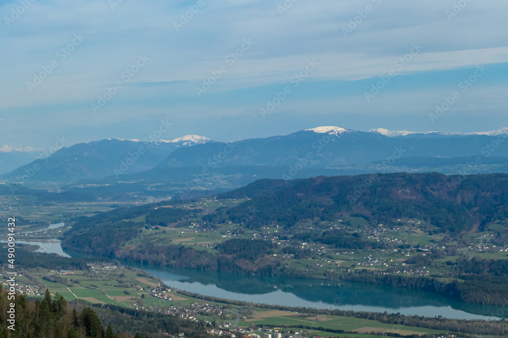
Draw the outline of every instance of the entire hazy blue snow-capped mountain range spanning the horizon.
[[[220,168],[229,168],[230,175],[235,170],[239,175],[248,172],[247,181],[392,171],[465,173],[462,171],[467,168],[473,173],[491,169],[508,172],[507,139],[508,128],[447,133],[382,128],[363,132],[333,126],[234,142],[216,142],[198,135],[156,142],[104,139],[62,148],[0,179],[70,183],[108,176],[112,181],[136,180],[138,175],[147,179],[153,174],[157,179],[171,180],[165,174],[171,168],[193,168],[192,173],[200,173],[204,181]],[[188,172],[190,176],[191,170]]]

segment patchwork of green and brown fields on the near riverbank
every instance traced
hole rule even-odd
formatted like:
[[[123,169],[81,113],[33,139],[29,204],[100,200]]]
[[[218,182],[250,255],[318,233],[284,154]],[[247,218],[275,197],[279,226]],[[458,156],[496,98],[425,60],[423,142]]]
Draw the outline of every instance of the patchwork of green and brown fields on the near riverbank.
[[[66,278],[66,283],[70,282],[74,285],[69,286],[58,282],[50,282],[43,279],[44,276],[53,276]],[[208,316],[200,316],[207,321],[217,321],[218,323],[236,321],[237,314],[241,316],[238,323],[239,328],[248,327],[277,327],[279,325],[308,325],[324,327],[329,329],[339,329],[358,332],[358,336],[375,337],[369,335],[372,331],[392,332],[403,334],[425,334],[425,333],[442,333],[443,331],[408,327],[394,326],[391,324],[383,324],[374,320],[359,319],[354,317],[331,316],[331,315],[311,315],[305,313],[294,313],[289,311],[270,310],[257,307],[246,306],[247,311],[237,310],[238,306],[228,305],[225,303],[204,301],[203,299],[193,298],[184,294],[180,294],[177,290],[167,292],[173,298],[172,302],[165,301],[153,297],[149,294],[149,290],[158,287],[158,282],[149,275],[139,275],[137,272],[126,269],[93,269],[92,272],[72,271],[68,274],[58,274],[56,272],[47,273],[30,273],[30,278],[20,277],[19,284],[24,286],[34,284],[34,277],[44,287],[47,287],[52,294],[60,294],[68,301],[74,299],[83,299],[90,304],[114,304],[122,307],[146,309],[158,311],[157,309],[169,308],[194,308],[196,304],[199,306],[213,306],[217,308],[229,308],[230,312],[224,312],[221,315],[211,314]],[[71,282],[72,279],[72,282]],[[25,284],[26,283],[26,284]],[[35,286],[35,285],[34,285]],[[33,297],[33,296],[30,296]],[[299,328],[286,328],[282,331],[290,330],[298,331]],[[327,331],[319,331],[317,329],[305,330],[307,333],[319,334],[323,336],[345,336]],[[363,333],[363,334],[362,334]]]

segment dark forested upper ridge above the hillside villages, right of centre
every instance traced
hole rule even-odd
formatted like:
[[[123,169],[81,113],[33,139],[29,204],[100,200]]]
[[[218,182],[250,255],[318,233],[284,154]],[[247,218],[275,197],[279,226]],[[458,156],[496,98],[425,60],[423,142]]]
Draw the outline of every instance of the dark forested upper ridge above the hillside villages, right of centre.
[[[250,195],[245,189],[242,194]],[[315,218],[334,220],[344,214],[362,215],[371,224],[419,218],[442,232],[459,233],[508,217],[506,174],[314,177],[256,195],[230,209],[229,218],[241,222],[247,217],[246,226],[251,229],[272,223],[290,227],[295,222]]]

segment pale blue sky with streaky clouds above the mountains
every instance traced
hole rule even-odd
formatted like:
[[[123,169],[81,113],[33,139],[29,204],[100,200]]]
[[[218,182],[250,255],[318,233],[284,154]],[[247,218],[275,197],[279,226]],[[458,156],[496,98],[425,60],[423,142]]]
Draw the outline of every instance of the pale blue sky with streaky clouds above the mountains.
[[[0,146],[508,127],[508,2],[0,0]]]

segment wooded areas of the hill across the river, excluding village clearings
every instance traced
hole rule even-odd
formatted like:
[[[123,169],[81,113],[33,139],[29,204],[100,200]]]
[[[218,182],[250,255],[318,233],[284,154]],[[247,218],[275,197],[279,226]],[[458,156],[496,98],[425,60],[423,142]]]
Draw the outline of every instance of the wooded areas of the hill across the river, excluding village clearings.
[[[188,226],[193,211],[183,208],[189,201],[170,201],[128,209],[117,209],[89,218],[81,218],[72,227],[62,247],[73,251],[143,264],[209,271],[288,277],[350,279],[361,282],[410,287],[440,293],[467,303],[503,304],[506,294],[502,278],[508,271],[507,260],[472,260],[462,257],[447,261],[453,276],[403,277],[377,273],[316,274],[315,268],[295,269],[277,253],[305,258],[310,249],[302,242],[328,245],[334,249],[400,250],[409,244],[396,244],[367,238],[360,230],[317,228],[303,225],[318,221],[336,222],[338,218],[363,217],[369,226],[378,223],[390,227],[398,218],[419,218],[425,227],[451,240],[463,234],[481,231],[494,221],[508,218],[508,175],[488,174],[446,176],[428,174],[373,174],[361,176],[315,177],[285,183],[282,180],[260,180],[237,191],[224,194],[230,198],[249,197],[233,207],[220,207],[199,216],[208,229],[216,224],[234,223],[239,233],[264,227],[277,227],[280,240],[294,241],[298,246],[280,248],[276,241],[263,239],[229,239],[213,250],[197,250],[188,245],[153,245],[143,228],[171,225]],[[191,201],[192,202],[192,201]],[[162,207],[169,206],[169,207]],[[203,209],[201,209],[202,211]],[[195,218],[196,219],[196,218]],[[400,219],[399,219],[400,220]],[[333,223],[332,223],[333,224]],[[296,226],[297,225],[297,226]],[[235,225],[236,227],[236,225]],[[295,231],[295,229],[300,229]],[[506,229],[497,231],[498,243],[508,243]],[[266,237],[266,236],[265,236]],[[416,250],[416,249],[415,249]],[[419,269],[457,254],[447,248],[432,254],[408,258],[409,267]],[[444,264],[444,263],[441,263]],[[396,273],[395,271],[388,271]],[[447,277],[441,282],[431,277]],[[498,278],[498,279],[496,279]],[[442,284],[442,285],[441,285]],[[438,286],[438,287],[436,287]],[[505,292],[507,291],[507,292]]]

